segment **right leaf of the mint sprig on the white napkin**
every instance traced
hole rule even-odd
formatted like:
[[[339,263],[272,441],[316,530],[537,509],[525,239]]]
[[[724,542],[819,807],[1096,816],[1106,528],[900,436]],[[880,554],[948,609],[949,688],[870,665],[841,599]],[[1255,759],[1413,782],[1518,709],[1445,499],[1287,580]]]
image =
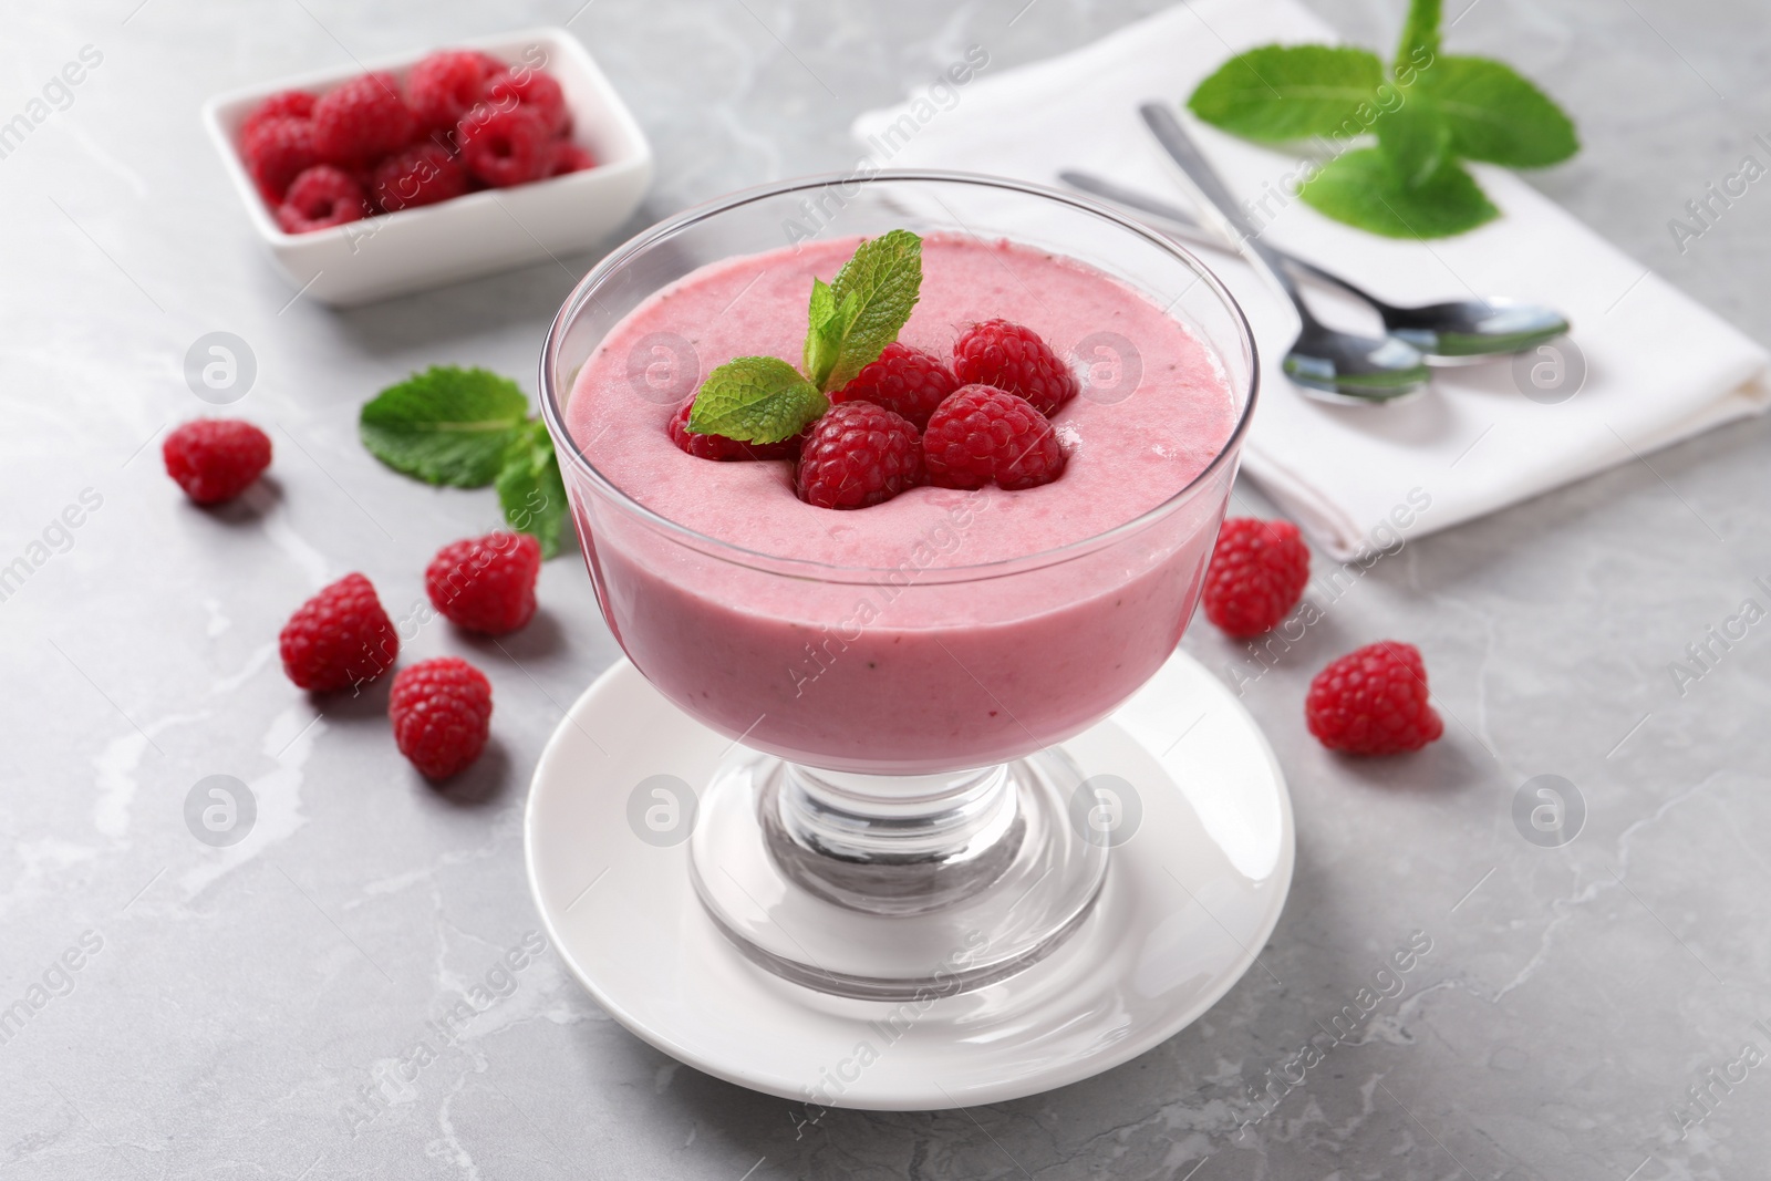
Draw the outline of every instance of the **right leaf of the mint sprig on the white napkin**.
[[[1442,57],[1420,87],[1450,127],[1450,151],[1509,168],[1557,165],[1580,151],[1574,124],[1511,66],[1486,57]]]

